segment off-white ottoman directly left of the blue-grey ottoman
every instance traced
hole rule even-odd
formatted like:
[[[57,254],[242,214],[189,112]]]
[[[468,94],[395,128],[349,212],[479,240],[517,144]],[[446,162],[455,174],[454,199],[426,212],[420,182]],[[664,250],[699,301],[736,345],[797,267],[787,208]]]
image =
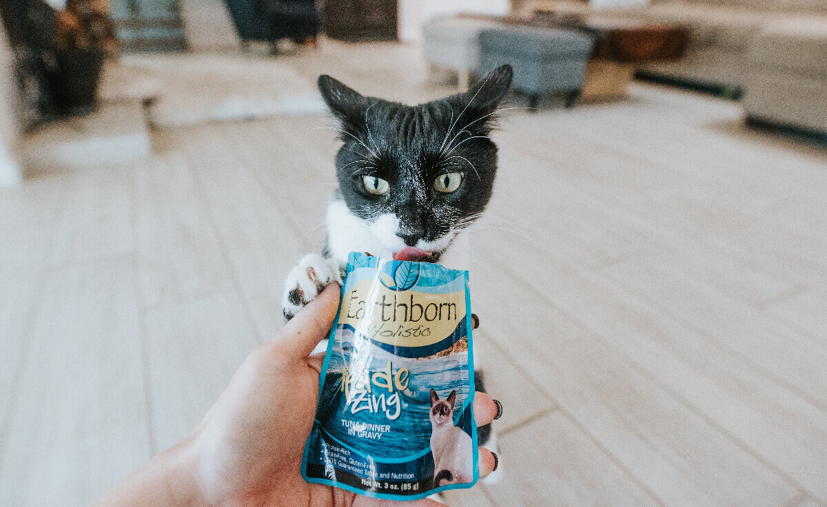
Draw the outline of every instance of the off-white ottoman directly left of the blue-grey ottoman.
[[[457,73],[457,86],[466,90],[471,72],[480,65],[480,32],[501,26],[494,19],[438,17],[423,25],[423,55],[431,65]]]

